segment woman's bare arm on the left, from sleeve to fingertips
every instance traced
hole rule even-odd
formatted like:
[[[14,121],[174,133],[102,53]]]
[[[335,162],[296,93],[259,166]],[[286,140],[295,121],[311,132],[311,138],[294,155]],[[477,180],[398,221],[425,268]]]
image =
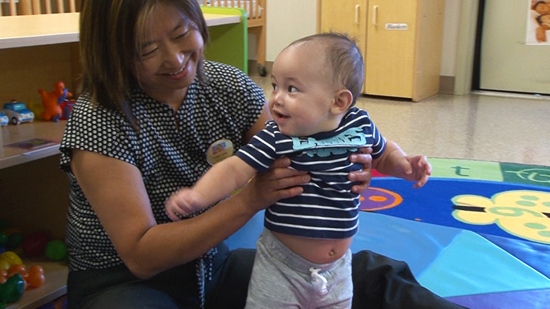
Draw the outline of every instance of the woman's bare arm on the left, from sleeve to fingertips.
[[[276,161],[239,193],[196,218],[157,225],[140,171],[95,152],[72,150],[72,172],[124,264],[147,278],[198,258],[257,211],[302,192],[309,176]]]

